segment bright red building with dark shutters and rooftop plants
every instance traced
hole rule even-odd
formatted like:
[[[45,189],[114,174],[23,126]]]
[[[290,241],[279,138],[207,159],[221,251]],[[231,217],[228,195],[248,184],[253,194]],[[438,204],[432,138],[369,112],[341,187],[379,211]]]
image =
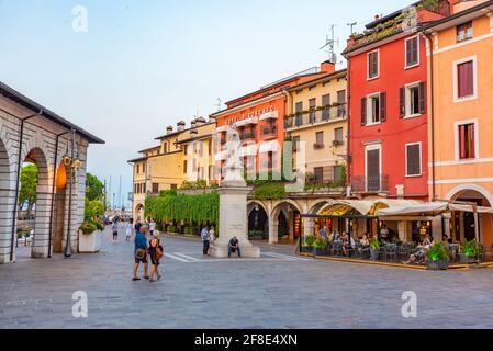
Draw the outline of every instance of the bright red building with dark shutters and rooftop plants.
[[[348,41],[349,182],[354,194],[428,200],[426,41],[419,27],[449,14],[418,3]]]

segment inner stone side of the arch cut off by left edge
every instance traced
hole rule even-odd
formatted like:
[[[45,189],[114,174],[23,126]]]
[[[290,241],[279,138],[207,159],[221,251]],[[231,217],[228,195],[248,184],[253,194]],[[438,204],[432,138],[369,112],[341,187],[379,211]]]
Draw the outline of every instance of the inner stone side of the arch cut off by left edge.
[[[12,222],[13,206],[15,202],[15,184],[13,174],[15,172],[12,155],[9,154],[7,133],[2,127],[0,131],[0,208],[4,225],[0,226],[0,263],[10,262],[12,246]],[[14,223],[15,224],[15,223]]]

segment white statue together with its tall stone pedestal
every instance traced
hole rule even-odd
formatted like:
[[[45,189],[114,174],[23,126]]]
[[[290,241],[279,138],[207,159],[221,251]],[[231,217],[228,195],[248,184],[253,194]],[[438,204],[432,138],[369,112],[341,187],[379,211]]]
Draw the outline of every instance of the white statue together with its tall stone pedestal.
[[[211,257],[227,258],[229,240],[236,237],[243,258],[259,258],[260,248],[248,240],[247,196],[251,191],[242,176],[242,161],[238,156],[239,141],[233,135],[227,143],[228,157],[225,178],[219,189],[220,194],[220,237],[211,246]]]

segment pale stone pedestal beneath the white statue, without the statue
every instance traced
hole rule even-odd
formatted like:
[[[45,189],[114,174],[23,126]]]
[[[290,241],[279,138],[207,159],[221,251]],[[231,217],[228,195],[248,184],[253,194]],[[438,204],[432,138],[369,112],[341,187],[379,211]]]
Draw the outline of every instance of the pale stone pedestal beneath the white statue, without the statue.
[[[227,258],[229,240],[239,241],[242,258],[259,258],[260,248],[248,240],[247,195],[251,189],[246,186],[225,186],[220,194],[220,237],[211,246],[211,257]]]

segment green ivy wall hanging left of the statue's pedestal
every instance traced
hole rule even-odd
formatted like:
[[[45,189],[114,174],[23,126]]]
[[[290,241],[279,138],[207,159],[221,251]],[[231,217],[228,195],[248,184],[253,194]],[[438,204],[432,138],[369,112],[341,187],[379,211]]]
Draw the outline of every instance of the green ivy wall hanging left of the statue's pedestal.
[[[172,195],[146,200],[145,216],[158,222],[186,222],[217,224],[220,196],[216,193],[201,195]]]

